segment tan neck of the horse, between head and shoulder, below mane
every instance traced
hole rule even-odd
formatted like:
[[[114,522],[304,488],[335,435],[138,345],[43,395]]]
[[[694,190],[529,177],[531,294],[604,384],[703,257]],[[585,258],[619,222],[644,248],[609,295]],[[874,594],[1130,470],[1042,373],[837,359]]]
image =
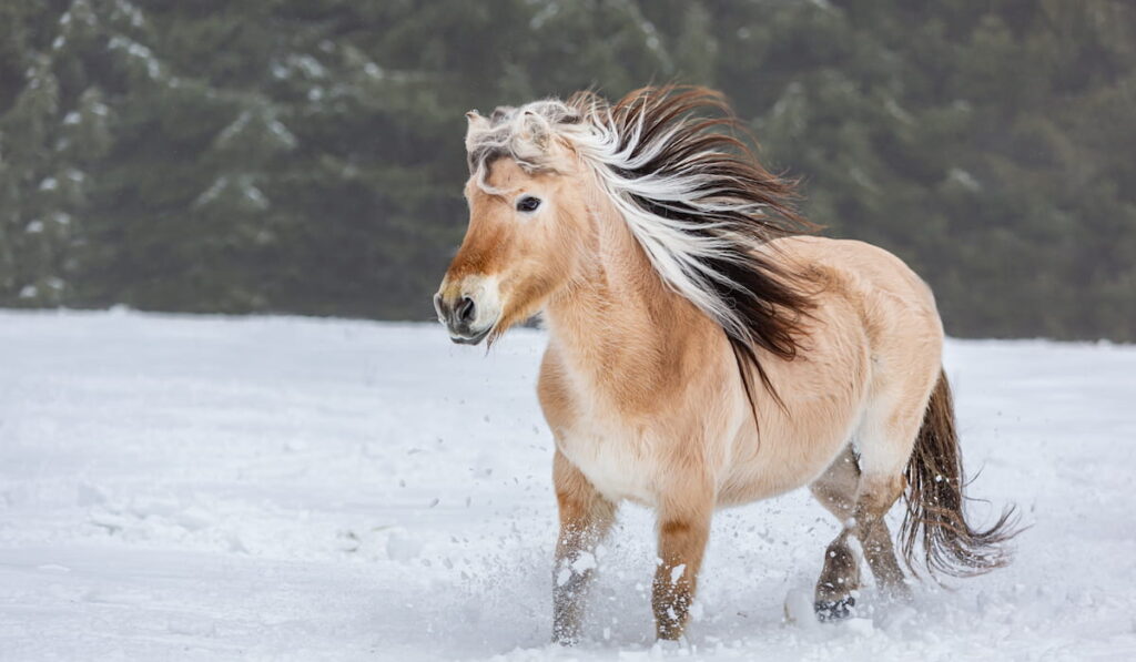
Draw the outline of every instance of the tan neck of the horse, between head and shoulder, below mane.
[[[593,387],[646,403],[709,351],[698,340],[725,336],[662,282],[610,201],[588,207],[587,265],[546,308],[551,342]]]

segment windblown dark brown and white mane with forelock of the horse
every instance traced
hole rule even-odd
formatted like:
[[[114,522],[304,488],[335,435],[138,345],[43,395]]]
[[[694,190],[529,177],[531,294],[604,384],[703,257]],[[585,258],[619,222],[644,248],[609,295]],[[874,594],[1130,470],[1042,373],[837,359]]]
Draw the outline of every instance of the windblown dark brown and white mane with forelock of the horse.
[[[499,108],[467,136],[470,171],[510,157],[556,170],[558,139],[592,167],[655,271],[725,330],[746,391],[754,366],[776,397],[757,349],[795,358],[812,308],[802,276],[770,251],[778,236],[815,228],[795,207],[795,182],[766,170],[722,95],[698,86],[636,90],[613,106],[594,92],[567,102]],[[778,399],[779,402],[779,399]]]

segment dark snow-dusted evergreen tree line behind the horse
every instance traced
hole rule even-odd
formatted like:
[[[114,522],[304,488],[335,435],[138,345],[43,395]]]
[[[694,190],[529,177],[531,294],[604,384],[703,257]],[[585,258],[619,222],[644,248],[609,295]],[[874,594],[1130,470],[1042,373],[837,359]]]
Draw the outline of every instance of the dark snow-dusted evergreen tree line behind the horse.
[[[463,111],[668,81],[950,333],[1136,341],[1125,0],[0,0],[0,305],[428,319]]]

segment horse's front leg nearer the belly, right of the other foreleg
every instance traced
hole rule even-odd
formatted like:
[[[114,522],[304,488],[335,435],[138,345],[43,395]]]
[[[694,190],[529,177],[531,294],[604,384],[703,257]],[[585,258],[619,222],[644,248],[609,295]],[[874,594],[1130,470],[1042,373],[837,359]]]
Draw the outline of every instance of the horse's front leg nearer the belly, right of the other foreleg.
[[[713,491],[699,484],[670,495],[659,508],[659,565],[652,585],[655,635],[678,639],[690,620],[699,569],[710,537]]]

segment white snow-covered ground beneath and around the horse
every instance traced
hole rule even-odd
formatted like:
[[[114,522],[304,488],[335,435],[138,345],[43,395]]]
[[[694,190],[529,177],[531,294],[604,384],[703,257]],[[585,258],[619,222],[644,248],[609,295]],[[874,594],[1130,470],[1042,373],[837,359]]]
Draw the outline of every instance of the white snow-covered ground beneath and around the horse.
[[[0,312],[0,660],[1136,657],[1136,347],[949,344],[974,513],[1031,525],[1005,570],[818,623],[836,525],[797,492],[716,517],[688,639],[655,645],[625,506],[560,650],[543,342]]]

